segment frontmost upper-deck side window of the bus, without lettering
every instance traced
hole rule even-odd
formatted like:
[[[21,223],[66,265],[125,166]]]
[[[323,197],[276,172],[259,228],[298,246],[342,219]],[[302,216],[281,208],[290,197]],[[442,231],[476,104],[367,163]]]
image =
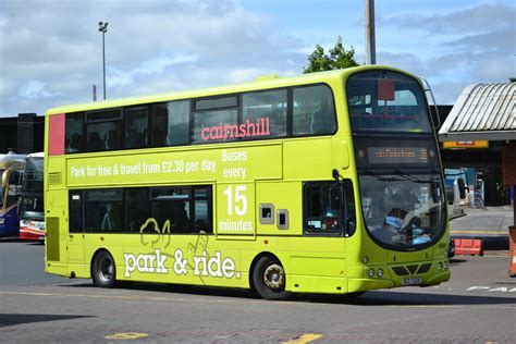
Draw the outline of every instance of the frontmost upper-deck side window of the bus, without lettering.
[[[328,135],[336,131],[335,109],[329,87],[297,87],[293,97],[294,136]]]

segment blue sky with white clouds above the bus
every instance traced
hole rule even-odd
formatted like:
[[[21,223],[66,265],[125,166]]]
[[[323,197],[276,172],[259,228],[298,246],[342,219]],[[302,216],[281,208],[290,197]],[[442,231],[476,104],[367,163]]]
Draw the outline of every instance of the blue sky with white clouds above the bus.
[[[439,105],[516,76],[514,0],[376,0],[377,64],[423,76]],[[307,66],[339,36],[366,62],[364,0],[1,0],[0,116],[229,85]]]

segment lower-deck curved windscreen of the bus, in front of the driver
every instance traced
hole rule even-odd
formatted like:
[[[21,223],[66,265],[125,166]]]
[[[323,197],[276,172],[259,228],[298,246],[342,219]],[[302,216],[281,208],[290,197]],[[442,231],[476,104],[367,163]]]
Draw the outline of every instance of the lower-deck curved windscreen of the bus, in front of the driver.
[[[364,220],[381,245],[410,250],[441,237],[445,205],[440,174],[364,174]]]

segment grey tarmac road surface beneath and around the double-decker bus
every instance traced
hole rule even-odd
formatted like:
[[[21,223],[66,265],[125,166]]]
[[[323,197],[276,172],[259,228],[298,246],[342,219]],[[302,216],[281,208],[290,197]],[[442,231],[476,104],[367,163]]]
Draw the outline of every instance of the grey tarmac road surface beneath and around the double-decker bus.
[[[42,274],[42,253],[40,245],[0,243],[1,342],[516,342],[516,279],[506,274],[506,250],[457,257],[452,281],[435,287],[288,302],[241,290],[98,288],[89,280]]]

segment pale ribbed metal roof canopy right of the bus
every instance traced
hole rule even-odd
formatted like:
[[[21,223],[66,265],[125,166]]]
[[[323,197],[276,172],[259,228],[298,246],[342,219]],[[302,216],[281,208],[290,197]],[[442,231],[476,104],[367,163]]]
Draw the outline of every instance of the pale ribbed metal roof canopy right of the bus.
[[[515,90],[515,83],[469,85],[441,126],[439,139],[516,139]]]

